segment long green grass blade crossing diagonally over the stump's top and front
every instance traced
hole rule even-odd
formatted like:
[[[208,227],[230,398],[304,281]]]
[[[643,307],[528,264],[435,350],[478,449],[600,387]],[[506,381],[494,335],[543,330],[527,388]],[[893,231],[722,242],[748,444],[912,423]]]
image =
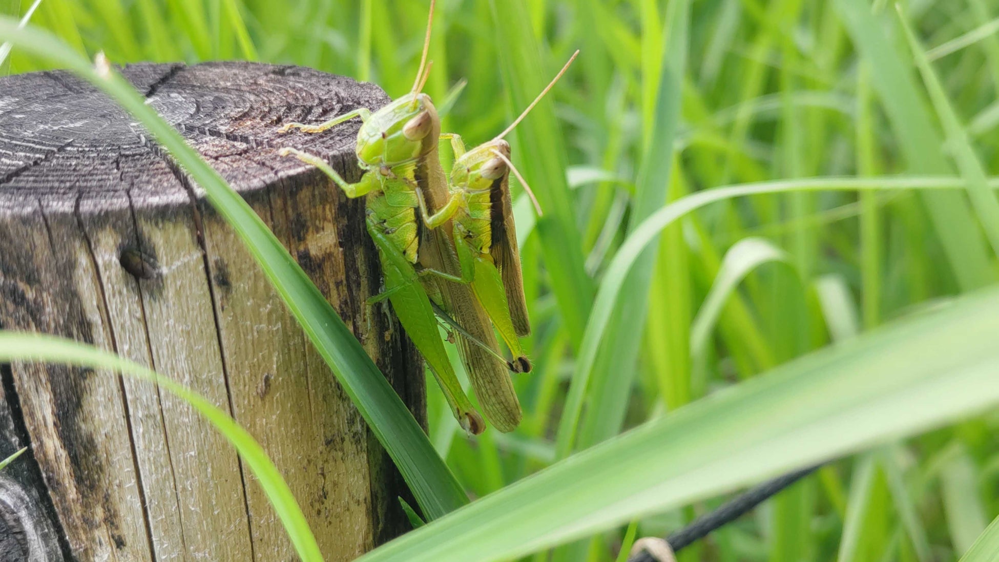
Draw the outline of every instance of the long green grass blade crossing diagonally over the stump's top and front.
[[[10,18],[0,18],[0,39],[69,68],[136,117],[205,190],[213,207],[243,239],[396,462],[425,514],[433,519],[468,503],[427,434],[316,285],[243,198],[146,105],[131,84],[113,71],[102,77],[59,39],[30,26],[18,30]]]

